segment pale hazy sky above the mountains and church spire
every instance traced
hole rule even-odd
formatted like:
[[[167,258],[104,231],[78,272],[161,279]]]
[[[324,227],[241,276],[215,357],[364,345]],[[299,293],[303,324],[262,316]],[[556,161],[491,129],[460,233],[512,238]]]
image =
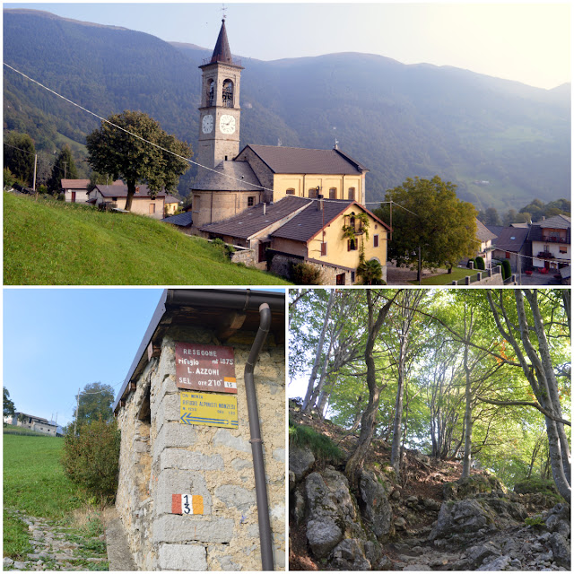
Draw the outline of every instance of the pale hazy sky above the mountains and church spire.
[[[570,3],[226,3],[230,48],[273,60],[365,52],[529,85],[570,82]],[[4,4],[213,48],[221,3]]]

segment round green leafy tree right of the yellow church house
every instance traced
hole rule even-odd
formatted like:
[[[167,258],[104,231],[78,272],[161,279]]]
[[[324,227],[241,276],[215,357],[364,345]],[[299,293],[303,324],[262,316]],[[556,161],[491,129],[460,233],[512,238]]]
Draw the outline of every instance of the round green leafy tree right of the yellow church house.
[[[418,260],[413,254],[421,248],[423,266],[450,269],[464,257],[474,256],[476,210],[460,201],[456,190],[457,186],[439,176],[407,178],[402,186],[387,190],[385,200],[400,207],[392,206],[392,219],[389,204],[381,204],[375,213],[393,228],[389,259],[416,268]]]

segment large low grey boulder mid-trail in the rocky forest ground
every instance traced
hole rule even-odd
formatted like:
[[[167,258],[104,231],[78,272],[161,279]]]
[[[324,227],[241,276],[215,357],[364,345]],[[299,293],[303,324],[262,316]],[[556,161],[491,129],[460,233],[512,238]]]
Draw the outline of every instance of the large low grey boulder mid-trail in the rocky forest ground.
[[[431,530],[430,540],[452,535],[472,535],[492,524],[492,516],[477,500],[448,500],[440,507],[437,524]]]

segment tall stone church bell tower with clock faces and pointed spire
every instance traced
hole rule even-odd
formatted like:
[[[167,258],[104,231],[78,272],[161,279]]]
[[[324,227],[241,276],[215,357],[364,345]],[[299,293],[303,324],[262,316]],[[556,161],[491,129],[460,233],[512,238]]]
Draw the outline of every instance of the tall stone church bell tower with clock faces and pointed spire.
[[[243,67],[231,57],[225,18],[212,57],[199,68],[202,88],[196,161],[213,168],[239,153],[239,90]]]

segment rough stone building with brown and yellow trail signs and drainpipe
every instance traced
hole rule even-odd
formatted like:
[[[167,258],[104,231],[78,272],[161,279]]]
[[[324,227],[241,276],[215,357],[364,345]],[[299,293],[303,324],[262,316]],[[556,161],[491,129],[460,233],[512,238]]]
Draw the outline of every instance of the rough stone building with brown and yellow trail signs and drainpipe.
[[[116,507],[139,570],[262,570],[265,556],[283,570],[284,332],[284,293],[163,292],[114,404]]]

